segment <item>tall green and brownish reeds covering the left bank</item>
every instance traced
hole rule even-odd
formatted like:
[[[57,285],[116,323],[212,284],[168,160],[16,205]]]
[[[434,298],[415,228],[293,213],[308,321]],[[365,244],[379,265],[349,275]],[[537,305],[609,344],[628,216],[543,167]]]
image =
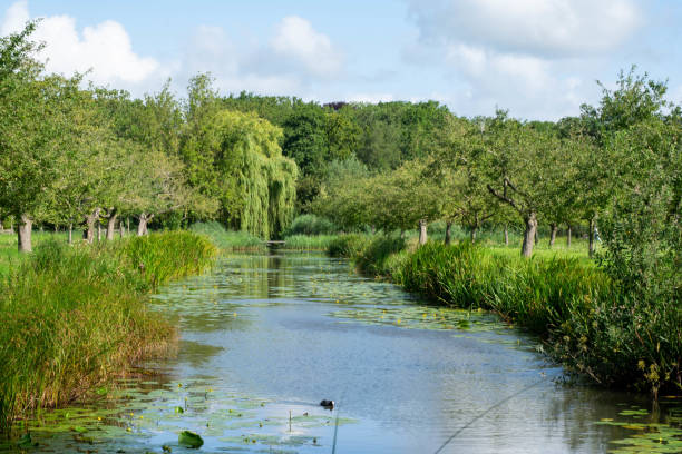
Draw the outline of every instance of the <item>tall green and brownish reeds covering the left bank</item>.
[[[39,244],[0,282],[0,425],[86,395],[164,353],[175,330],[147,312],[146,294],[199,273],[215,253],[187,231]]]

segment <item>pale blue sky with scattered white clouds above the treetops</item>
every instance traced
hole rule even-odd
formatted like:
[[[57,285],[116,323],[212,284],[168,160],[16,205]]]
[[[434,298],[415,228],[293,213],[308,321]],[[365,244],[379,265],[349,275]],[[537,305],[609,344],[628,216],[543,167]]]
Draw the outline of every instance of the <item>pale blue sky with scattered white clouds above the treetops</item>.
[[[0,34],[36,18],[48,71],[135,97],[211,72],[223,95],[556,120],[636,65],[682,103],[680,0],[0,0]]]

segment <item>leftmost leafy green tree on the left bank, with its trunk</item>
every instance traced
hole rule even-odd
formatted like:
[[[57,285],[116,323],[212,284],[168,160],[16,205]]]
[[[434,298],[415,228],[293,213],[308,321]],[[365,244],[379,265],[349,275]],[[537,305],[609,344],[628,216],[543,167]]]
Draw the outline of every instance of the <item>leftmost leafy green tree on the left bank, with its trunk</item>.
[[[31,250],[32,223],[48,216],[55,166],[72,139],[80,77],[43,76],[29,41],[35,23],[0,41],[0,205],[20,220],[19,250]]]

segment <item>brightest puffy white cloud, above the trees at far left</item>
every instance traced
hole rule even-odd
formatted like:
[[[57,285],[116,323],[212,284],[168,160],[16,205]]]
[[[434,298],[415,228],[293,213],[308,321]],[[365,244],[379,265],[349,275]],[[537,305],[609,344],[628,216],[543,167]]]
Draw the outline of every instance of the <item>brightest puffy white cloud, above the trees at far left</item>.
[[[29,18],[28,3],[18,1],[7,10],[0,29],[3,33],[19,31]],[[47,61],[50,72],[70,76],[90,70],[88,79],[115,87],[139,85],[160,72],[158,61],[135,53],[130,37],[115,21],[79,32],[74,18],[50,16],[42,18],[32,39],[46,43],[39,58]]]

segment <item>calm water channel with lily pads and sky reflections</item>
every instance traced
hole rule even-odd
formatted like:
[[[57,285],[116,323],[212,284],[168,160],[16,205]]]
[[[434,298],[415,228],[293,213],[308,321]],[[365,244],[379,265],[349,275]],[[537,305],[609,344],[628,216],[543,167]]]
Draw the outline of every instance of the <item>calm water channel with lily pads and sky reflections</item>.
[[[652,408],[563,384],[536,338],[344,260],[228,257],[163,288],[153,310],[179,327],[177,357],[100,403],[43,413],[31,452],[191,452],[183,430],[201,452],[330,453],[334,430],[338,453],[682,452],[674,398]]]

